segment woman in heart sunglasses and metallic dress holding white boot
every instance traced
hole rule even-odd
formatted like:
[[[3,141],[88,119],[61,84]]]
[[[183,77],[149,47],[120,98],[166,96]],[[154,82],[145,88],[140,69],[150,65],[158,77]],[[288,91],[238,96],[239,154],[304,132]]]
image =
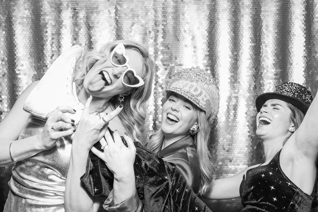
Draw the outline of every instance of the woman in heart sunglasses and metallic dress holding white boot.
[[[128,40],[109,42],[88,51],[74,72],[82,52],[79,45],[63,52],[0,123],[0,165],[14,163],[4,211],[65,211],[70,157],[76,158],[72,166],[84,161],[83,174],[94,144],[78,138],[90,132],[97,142],[108,125],[135,139],[141,134],[154,73],[147,49]],[[79,177],[68,178],[80,184]]]

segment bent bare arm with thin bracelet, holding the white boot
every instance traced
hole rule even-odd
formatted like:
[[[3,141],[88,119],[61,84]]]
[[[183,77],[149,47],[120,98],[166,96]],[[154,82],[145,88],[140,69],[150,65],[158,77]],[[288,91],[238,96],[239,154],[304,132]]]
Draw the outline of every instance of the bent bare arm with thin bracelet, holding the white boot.
[[[38,81],[31,83],[31,85],[22,92],[10,112],[0,122],[0,166],[7,166],[16,161],[29,158],[43,150],[50,149],[55,145],[57,138],[73,133],[72,130],[67,130],[63,132],[53,132],[52,135],[44,129],[38,135],[18,139],[19,134],[25,127],[30,116],[29,113],[23,110],[24,101],[37,84]],[[74,113],[73,109],[70,107],[64,107],[63,109],[70,113]],[[58,113],[56,113],[55,116],[58,116]],[[71,119],[65,119],[69,122],[65,127],[71,128]],[[49,127],[45,125],[45,128]],[[52,139],[55,137],[56,139]]]

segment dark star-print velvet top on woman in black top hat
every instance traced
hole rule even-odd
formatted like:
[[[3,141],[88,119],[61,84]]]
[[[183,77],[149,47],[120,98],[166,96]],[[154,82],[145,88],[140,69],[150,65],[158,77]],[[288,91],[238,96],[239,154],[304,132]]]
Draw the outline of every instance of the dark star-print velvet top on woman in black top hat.
[[[264,166],[249,169],[240,185],[241,211],[308,212],[313,195],[307,195],[283,173],[280,151]]]

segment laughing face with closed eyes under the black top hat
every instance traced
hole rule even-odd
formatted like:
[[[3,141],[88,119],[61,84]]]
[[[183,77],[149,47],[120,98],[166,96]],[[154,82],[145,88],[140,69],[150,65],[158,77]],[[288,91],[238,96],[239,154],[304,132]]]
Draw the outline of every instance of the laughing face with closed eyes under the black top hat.
[[[279,99],[267,100],[256,116],[256,134],[262,140],[285,139],[294,124],[290,122],[291,110],[285,101]]]

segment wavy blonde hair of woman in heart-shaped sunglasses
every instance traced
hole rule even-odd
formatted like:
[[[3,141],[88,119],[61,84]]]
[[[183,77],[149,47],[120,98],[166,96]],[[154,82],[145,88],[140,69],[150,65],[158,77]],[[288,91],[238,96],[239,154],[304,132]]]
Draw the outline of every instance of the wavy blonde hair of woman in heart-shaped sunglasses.
[[[145,84],[135,88],[132,93],[125,96],[125,101],[122,102],[123,109],[121,113],[118,114],[118,118],[126,128],[128,135],[132,136],[134,140],[139,141],[139,138],[141,137],[140,130],[146,119],[146,113],[143,106],[151,95],[151,86],[155,72],[154,61],[150,58],[149,51],[142,44],[131,40],[115,40],[104,44],[98,51],[88,51],[82,60],[82,69],[74,73],[73,82],[75,82],[78,92],[83,87],[86,73],[92,68],[96,61],[108,58],[108,55],[118,44],[123,44],[125,49],[138,51],[142,56],[142,79]],[[118,97],[119,94],[113,96],[113,98],[109,100],[113,110],[120,105]]]

